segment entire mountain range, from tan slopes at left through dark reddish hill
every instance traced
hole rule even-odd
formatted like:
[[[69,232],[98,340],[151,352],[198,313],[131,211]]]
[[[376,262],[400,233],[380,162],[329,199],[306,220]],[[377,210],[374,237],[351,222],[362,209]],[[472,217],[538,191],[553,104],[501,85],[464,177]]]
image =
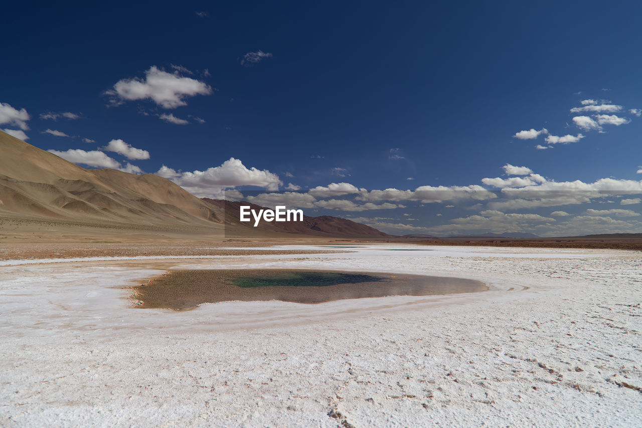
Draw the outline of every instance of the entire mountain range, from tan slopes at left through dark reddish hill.
[[[85,169],[0,132],[0,217],[78,225],[202,228],[221,235],[238,230],[245,235],[260,231],[325,237],[390,236],[332,216],[304,216],[302,222],[261,222],[256,229],[248,228],[247,223],[239,221],[239,204],[196,198],[153,174]]]

